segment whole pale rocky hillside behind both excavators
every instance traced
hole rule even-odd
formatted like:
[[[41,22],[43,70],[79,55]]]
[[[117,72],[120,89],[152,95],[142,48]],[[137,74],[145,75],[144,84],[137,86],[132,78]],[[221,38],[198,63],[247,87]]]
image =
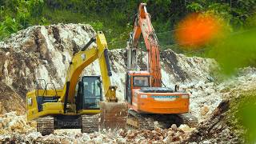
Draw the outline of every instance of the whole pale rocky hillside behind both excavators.
[[[82,24],[32,26],[13,34],[6,42],[0,42],[2,113],[12,110],[22,112],[26,92],[36,88],[37,79],[54,82],[56,88],[61,89],[72,54],[81,49],[94,34],[91,26]],[[146,65],[145,57],[145,54],[139,56],[141,67]],[[162,79],[166,86],[179,84],[187,87],[213,79],[210,71],[215,70],[215,65],[211,59],[187,58],[172,50],[162,51],[161,58]],[[113,83],[118,86],[118,98],[123,100],[126,50],[111,50],[110,62]],[[98,62],[86,67],[84,74],[98,75]],[[10,102],[14,105],[10,106]]]

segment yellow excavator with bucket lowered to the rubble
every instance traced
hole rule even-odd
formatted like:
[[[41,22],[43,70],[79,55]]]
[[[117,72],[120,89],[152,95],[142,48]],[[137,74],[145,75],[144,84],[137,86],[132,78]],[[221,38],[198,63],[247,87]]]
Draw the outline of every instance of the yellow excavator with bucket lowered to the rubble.
[[[97,46],[88,49],[93,42]],[[101,76],[81,76],[82,70],[97,59]],[[118,102],[111,75],[106,38],[98,32],[74,54],[62,90],[38,79],[37,89],[26,94],[27,119],[37,120],[37,130],[42,135],[52,134],[55,129],[82,129],[82,133],[90,133],[101,128],[124,128],[127,106]],[[44,88],[39,89],[43,83]],[[53,90],[48,90],[50,85]]]

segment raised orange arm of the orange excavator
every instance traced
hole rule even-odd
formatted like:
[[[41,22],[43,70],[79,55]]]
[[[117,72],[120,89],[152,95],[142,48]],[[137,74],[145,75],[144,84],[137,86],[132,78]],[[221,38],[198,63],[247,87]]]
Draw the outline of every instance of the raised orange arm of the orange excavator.
[[[130,42],[128,45],[128,70],[136,70],[138,53],[138,40],[140,36],[146,44],[147,50],[147,69],[151,75],[151,85],[153,87],[162,86],[162,75],[161,75],[161,65],[159,58],[159,46],[158,38],[154,32],[154,28],[151,23],[150,14],[147,13],[146,3],[141,3],[138,7],[138,14],[134,21],[134,30],[130,34]]]

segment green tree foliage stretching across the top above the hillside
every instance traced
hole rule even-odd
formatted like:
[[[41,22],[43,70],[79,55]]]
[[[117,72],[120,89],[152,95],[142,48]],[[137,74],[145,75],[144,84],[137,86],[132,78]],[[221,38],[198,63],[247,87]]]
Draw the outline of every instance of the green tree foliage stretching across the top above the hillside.
[[[174,30],[186,14],[193,12],[217,14],[234,29],[254,25],[254,20],[246,22],[256,10],[254,0],[2,0],[0,38],[28,26],[80,22],[105,32],[110,48],[124,47],[140,2],[147,3],[158,33]]]

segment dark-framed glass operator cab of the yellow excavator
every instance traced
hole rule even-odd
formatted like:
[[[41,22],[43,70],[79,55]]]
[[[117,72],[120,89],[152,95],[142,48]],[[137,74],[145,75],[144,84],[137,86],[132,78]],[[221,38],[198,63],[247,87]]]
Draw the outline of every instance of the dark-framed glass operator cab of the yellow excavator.
[[[77,110],[99,110],[102,101],[102,81],[100,76],[83,76],[78,82],[76,97]]]

